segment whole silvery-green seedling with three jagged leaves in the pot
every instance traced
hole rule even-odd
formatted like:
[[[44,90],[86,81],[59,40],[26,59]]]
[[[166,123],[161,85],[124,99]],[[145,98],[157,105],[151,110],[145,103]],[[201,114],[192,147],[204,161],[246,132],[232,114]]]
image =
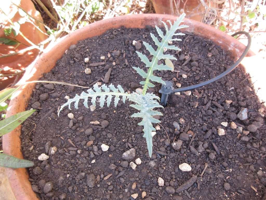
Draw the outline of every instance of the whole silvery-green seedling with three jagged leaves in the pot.
[[[115,87],[113,84],[109,86],[106,86],[104,84],[99,87],[98,84],[96,83],[95,85],[93,85],[93,89],[89,89],[87,90],[87,92],[83,91],[81,95],[76,94],[74,98],[68,99],[68,101],[61,106],[58,115],[65,106],[68,106],[68,108],[71,110],[72,103],[74,103],[74,107],[78,109],[78,102],[80,101],[80,99],[84,99],[83,104],[86,108],[89,108],[88,107],[89,99],[92,105],[95,106],[96,100],[97,98],[99,98],[98,102],[100,103],[100,107],[103,107],[105,102],[107,107],[109,107],[112,100],[114,101],[114,106],[116,107],[120,100],[120,97],[122,97],[122,101],[124,103],[126,100],[132,101],[135,104],[131,104],[130,106],[138,110],[138,112],[131,115],[131,117],[142,118],[142,121],[139,122],[138,125],[143,126],[143,132],[144,132],[143,137],[146,138],[149,156],[151,157],[152,137],[156,134],[155,128],[153,127],[152,124],[160,122],[158,119],[155,119],[154,116],[163,115],[161,112],[153,109],[163,106],[159,104],[160,98],[155,94],[147,93],[147,90],[150,87],[155,86],[152,82],[165,84],[165,81],[163,81],[161,77],[153,75],[154,70],[173,70],[172,66],[164,64],[158,65],[158,61],[161,59],[164,59],[167,62],[169,62],[169,60],[176,60],[176,58],[173,55],[164,54],[164,52],[165,50],[168,49],[179,50],[179,51],[181,50],[175,45],[169,45],[169,43],[171,43],[169,41],[181,41],[181,39],[173,38],[173,36],[185,35],[184,33],[176,33],[178,29],[188,27],[187,25],[180,25],[184,17],[185,14],[183,13],[173,24],[171,23],[171,21],[168,20],[167,22],[170,24],[170,29],[168,29],[168,26],[165,22],[162,22],[165,26],[165,31],[166,31],[165,35],[163,34],[163,31],[159,27],[155,26],[157,33],[161,38],[161,41],[159,41],[159,39],[156,38],[155,35],[151,33],[151,37],[155,45],[157,46],[157,50],[153,49],[152,46],[149,45],[148,43],[143,42],[143,45],[146,47],[149,53],[153,55],[152,61],[149,61],[146,55],[143,55],[142,53],[136,51],[141,61],[145,63],[147,67],[146,70],[147,72],[139,67],[133,67],[137,71],[137,73],[140,76],[142,76],[142,78],[145,79],[145,81],[140,82],[140,84],[143,85],[142,92],[133,92],[128,94],[124,91],[124,89],[120,85]]]

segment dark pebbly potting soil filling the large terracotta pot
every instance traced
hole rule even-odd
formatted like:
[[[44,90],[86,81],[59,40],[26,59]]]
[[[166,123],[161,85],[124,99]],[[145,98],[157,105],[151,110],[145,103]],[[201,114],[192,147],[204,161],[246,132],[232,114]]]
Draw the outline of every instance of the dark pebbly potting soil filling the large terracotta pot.
[[[103,83],[112,68],[109,84],[120,84],[125,91],[133,92],[141,88],[139,82],[143,79],[132,66],[144,67],[136,48],[151,56],[143,45],[133,46],[132,41],[146,41],[155,47],[149,32],[158,36],[150,27],[121,28],[80,41],[41,80],[92,86],[95,82]],[[184,87],[213,78],[232,64],[230,55],[213,42],[194,35],[181,38],[174,44],[182,51],[166,52],[177,58],[173,61],[175,71],[155,71],[175,87],[177,83]],[[105,61],[101,56],[105,56]],[[85,63],[87,57],[89,62]],[[91,74],[84,73],[86,67]],[[160,95],[160,85],[155,85],[149,92]],[[160,125],[154,124],[160,130],[153,137],[152,158],[142,137],[143,128],[137,125],[140,119],[130,117],[136,112],[129,107],[130,102],[120,101],[117,107],[111,103],[102,109],[97,103],[91,111],[81,101],[78,110],[65,108],[57,116],[66,96],[73,98],[84,90],[36,84],[28,102],[28,109],[38,111],[23,124],[22,150],[24,158],[35,164],[29,168],[30,182],[41,199],[134,199],[132,194],[142,199],[146,194],[147,200],[250,200],[264,195],[265,119],[260,113],[263,107],[240,67],[191,94],[181,92],[169,97],[168,105],[158,109],[163,116],[159,118]],[[69,113],[73,113],[73,119]],[[90,123],[94,121],[100,124]],[[109,149],[102,151],[102,144]],[[57,149],[55,154],[52,147]],[[122,154],[130,149],[128,160],[123,159]],[[41,154],[50,154],[49,159],[39,161]],[[129,163],[136,163],[137,158],[141,164],[133,170]],[[181,171],[178,166],[182,163],[188,163],[192,170]],[[158,185],[159,177],[164,186]]]

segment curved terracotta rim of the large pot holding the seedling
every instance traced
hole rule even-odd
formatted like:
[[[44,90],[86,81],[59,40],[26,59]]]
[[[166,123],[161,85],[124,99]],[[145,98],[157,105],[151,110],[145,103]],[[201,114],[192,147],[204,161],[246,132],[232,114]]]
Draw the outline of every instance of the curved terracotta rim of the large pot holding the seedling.
[[[108,29],[112,28],[119,28],[121,26],[125,26],[127,28],[144,28],[147,25],[161,26],[162,20],[174,21],[176,18],[176,16],[172,15],[140,14],[114,17],[92,23],[74,31],[73,33],[70,33],[64,38],[61,38],[54,47],[41,55],[35,65],[27,68],[26,73],[20,82],[37,80],[43,75],[43,73],[49,72],[55,66],[56,61],[62,57],[65,50],[68,49],[70,45],[76,44],[80,40],[101,35]],[[239,57],[245,49],[245,46],[242,43],[211,26],[190,19],[185,19],[184,23],[189,25],[189,28],[182,30],[183,32],[186,31],[193,33],[214,41],[214,43],[220,45],[224,50],[229,51],[232,57]],[[255,55],[250,51],[247,56],[252,59]],[[253,63],[250,65],[250,63],[243,62],[243,64],[245,64],[245,66],[254,66]],[[17,92],[17,96],[10,102],[7,117],[25,110],[33,88],[34,84],[28,84]],[[3,150],[6,154],[23,158],[19,138],[20,129],[21,127],[18,127],[11,133],[3,136]],[[37,199],[36,194],[32,191],[31,184],[28,181],[27,169],[6,168],[6,172],[11,188],[17,199]]]

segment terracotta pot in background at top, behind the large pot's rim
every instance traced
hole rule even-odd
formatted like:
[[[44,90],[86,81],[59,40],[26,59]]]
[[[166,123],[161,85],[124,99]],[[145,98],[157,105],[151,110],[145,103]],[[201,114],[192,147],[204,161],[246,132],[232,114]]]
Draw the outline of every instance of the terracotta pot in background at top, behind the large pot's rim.
[[[206,0],[205,2],[207,3]],[[186,18],[199,22],[205,13],[200,0],[152,0],[152,4],[157,14],[179,15],[185,12]]]

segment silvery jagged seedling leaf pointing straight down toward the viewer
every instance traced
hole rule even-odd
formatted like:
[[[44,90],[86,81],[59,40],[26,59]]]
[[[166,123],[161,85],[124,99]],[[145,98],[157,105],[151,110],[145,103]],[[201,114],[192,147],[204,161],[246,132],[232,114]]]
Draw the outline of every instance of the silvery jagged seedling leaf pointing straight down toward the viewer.
[[[130,97],[130,101],[135,102],[136,104],[130,105],[131,107],[139,110],[138,113],[134,113],[131,117],[140,117],[142,121],[138,125],[143,126],[143,137],[146,138],[147,148],[149,151],[149,156],[152,155],[152,137],[155,135],[155,128],[152,126],[152,123],[159,123],[158,119],[153,118],[155,115],[162,115],[160,112],[153,110],[154,108],[163,107],[159,104],[157,100],[160,98],[155,94],[146,93],[141,95],[133,92]]]

